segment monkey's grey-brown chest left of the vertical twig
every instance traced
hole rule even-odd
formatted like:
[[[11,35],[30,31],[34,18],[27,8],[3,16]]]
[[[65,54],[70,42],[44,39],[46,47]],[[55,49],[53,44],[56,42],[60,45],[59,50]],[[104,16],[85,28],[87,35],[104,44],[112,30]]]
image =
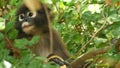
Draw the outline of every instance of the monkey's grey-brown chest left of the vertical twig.
[[[40,41],[36,45],[34,45],[33,52],[38,56],[47,57],[50,54],[49,39],[40,39]]]

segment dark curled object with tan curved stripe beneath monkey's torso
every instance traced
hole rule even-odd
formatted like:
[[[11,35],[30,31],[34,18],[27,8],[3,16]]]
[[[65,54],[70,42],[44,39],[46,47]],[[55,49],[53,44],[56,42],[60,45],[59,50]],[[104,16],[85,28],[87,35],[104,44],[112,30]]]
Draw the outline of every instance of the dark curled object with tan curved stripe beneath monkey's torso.
[[[52,61],[53,64],[60,65],[60,68],[67,68],[67,66],[69,66],[68,62],[65,62],[60,56],[55,54],[50,54],[47,58],[49,62]]]

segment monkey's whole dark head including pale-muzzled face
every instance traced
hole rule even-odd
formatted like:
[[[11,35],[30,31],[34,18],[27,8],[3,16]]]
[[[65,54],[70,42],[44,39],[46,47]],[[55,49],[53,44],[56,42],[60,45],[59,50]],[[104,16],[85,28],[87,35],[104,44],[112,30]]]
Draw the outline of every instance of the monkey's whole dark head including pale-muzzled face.
[[[49,8],[47,11],[50,13]],[[15,27],[19,32],[33,35],[39,33],[46,26],[48,26],[48,19],[43,4],[40,4],[39,10],[36,11],[30,11],[25,4],[17,10]]]

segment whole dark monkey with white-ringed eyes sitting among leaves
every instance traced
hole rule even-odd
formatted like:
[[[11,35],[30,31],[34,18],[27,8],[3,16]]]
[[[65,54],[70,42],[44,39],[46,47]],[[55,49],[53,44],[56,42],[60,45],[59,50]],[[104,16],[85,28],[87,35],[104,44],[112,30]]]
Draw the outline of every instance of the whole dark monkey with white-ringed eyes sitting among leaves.
[[[47,8],[47,11],[51,19],[50,9]],[[50,30],[44,4],[39,3],[39,9],[31,11],[23,3],[16,11],[15,29],[19,31],[18,39],[27,38],[30,40],[35,35],[40,36],[39,42],[30,47],[30,49],[36,56],[47,57],[50,55]],[[53,53],[64,60],[68,59],[70,54],[58,32],[52,27],[51,31],[53,35]]]

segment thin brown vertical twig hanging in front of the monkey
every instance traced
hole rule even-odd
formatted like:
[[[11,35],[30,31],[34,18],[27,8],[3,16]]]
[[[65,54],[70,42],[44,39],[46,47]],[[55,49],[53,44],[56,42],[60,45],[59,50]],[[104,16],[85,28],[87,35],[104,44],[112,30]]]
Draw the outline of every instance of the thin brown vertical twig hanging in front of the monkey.
[[[51,25],[50,25],[51,21],[50,21],[50,18],[49,18],[47,7],[45,5],[44,5],[44,9],[45,9],[45,13],[46,13],[46,16],[47,16],[49,33],[50,33],[50,53],[53,53],[53,35],[52,35],[52,28],[51,28]]]

